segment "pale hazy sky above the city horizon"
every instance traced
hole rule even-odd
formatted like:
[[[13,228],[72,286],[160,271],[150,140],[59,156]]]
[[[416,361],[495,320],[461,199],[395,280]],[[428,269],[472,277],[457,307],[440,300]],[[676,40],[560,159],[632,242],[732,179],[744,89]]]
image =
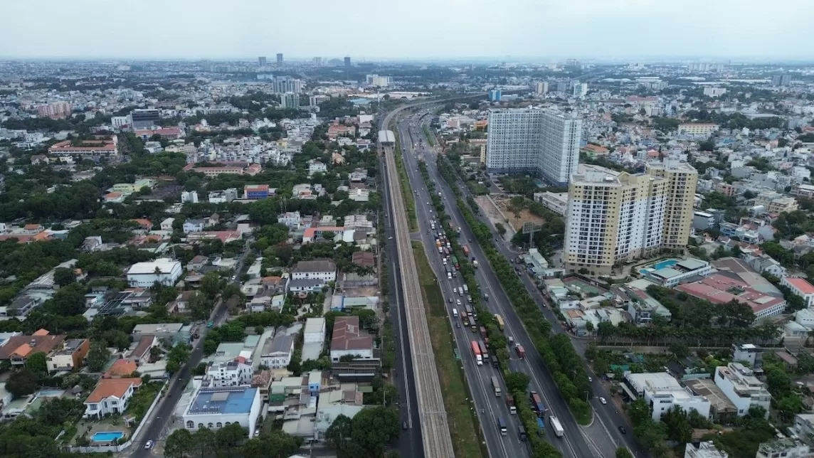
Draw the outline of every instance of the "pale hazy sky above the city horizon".
[[[809,58],[812,0],[0,0],[2,57]]]

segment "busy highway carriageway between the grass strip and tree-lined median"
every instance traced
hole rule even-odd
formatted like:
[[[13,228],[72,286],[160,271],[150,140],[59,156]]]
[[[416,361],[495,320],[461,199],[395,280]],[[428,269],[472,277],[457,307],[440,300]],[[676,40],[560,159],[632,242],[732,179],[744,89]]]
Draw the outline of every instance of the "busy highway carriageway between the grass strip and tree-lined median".
[[[416,167],[415,157],[417,154],[413,148],[413,138],[418,138],[417,133],[409,129],[408,120],[402,120],[398,124],[399,140],[402,157],[405,159],[405,166]],[[423,134],[422,134],[423,135]],[[409,164],[409,165],[408,165]],[[480,340],[480,334],[473,333],[469,326],[461,325],[460,312],[466,306],[466,295],[462,294],[464,281],[462,277],[447,279],[445,265],[442,256],[435,248],[435,236],[440,230],[436,214],[431,207],[429,190],[422,182],[414,181],[413,173],[410,173],[410,186],[414,190],[416,201],[416,214],[418,218],[419,232],[414,234],[414,239],[420,239],[425,248],[427,259],[435,272],[435,277],[439,281],[441,293],[444,295],[448,319],[452,325],[455,344],[458,355],[466,372],[466,379],[470,387],[472,398],[475,402],[475,409],[479,417],[479,422],[486,438],[486,445],[490,456],[527,456],[526,444],[521,442],[518,436],[517,426],[519,421],[511,415],[506,406],[505,397],[495,395],[492,387],[492,377],[497,377],[501,384],[501,391],[505,393],[502,374],[499,369],[493,368],[491,364],[485,362],[479,366],[475,360],[470,344]],[[422,178],[419,176],[418,180]],[[435,220],[435,223],[432,221]],[[431,230],[435,225],[436,230]],[[454,316],[453,309],[459,312],[459,316]],[[498,419],[505,421],[506,435],[501,435],[498,430]]]

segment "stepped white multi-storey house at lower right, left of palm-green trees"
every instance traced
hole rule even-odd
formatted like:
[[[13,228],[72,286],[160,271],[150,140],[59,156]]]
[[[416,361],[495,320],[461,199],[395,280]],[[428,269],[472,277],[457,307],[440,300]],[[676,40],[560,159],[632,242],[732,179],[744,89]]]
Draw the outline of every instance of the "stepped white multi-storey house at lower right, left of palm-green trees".
[[[768,415],[772,395],[769,394],[764,383],[760,382],[758,377],[755,377],[752,369],[741,363],[718,366],[715,369],[713,380],[716,386],[724,392],[727,399],[735,404],[738,417],[743,417],[749,413],[749,408],[752,406],[765,408]]]

